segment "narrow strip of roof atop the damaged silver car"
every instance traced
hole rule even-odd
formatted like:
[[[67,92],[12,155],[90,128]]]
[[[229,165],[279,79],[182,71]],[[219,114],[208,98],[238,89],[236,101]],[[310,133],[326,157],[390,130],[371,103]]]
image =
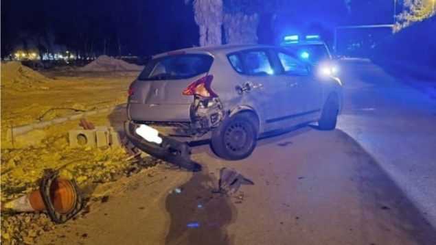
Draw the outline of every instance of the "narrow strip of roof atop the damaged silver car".
[[[271,45],[262,45],[262,44],[225,44],[225,45],[218,45],[218,46],[207,46],[207,47],[193,47],[193,48],[187,48],[187,49],[179,49],[175,51],[169,51],[165,53],[159,53],[157,55],[153,56],[154,58],[157,57],[163,57],[166,55],[171,55],[172,53],[207,53],[211,55],[215,55],[218,53],[232,53],[236,51],[241,51],[244,49],[262,49],[262,48],[277,48],[275,46]]]

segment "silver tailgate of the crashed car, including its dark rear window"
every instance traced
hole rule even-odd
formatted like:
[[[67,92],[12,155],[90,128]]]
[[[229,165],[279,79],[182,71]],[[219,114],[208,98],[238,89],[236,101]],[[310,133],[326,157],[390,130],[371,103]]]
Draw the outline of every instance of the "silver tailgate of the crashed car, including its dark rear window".
[[[148,62],[130,86],[130,120],[190,121],[194,98],[182,92],[190,83],[207,75],[213,60],[207,54],[178,54]]]

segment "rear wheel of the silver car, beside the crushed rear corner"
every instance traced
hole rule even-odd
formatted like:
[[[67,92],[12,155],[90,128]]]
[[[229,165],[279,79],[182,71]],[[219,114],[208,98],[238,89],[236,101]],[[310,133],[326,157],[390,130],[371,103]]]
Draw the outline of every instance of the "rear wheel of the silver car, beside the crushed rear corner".
[[[253,114],[242,112],[222,122],[212,132],[211,149],[218,157],[228,160],[251,155],[257,141],[257,124]]]

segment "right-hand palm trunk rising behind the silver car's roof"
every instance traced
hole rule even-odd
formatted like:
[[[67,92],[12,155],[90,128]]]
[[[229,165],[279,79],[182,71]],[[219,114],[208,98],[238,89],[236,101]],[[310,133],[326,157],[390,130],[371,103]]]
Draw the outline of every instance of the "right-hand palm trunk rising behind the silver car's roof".
[[[225,42],[228,44],[257,43],[257,25],[259,25],[258,14],[225,14]]]

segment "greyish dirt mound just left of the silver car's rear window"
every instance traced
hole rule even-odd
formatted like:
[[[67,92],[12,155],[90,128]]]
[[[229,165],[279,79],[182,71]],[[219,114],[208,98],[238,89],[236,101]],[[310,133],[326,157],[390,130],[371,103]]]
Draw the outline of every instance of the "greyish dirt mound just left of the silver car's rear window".
[[[80,71],[128,71],[142,70],[143,66],[130,64],[124,60],[118,60],[108,55],[100,55],[97,60],[80,68]]]

